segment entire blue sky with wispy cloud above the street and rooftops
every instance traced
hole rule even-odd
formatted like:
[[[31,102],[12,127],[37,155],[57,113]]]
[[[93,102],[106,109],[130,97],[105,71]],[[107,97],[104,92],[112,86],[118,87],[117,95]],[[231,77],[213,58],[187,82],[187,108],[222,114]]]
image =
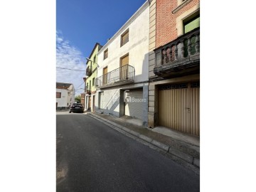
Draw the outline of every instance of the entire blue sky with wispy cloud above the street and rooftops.
[[[57,0],[56,81],[84,91],[86,59],[95,43],[102,46],[146,0]],[[65,69],[63,69],[65,68]],[[70,69],[70,70],[68,70]]]

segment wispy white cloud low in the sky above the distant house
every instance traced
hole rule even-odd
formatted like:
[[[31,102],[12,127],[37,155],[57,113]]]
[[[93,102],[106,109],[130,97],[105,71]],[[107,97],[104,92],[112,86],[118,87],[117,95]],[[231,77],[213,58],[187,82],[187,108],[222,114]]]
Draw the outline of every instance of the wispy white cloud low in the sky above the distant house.
[[[56,32],[56,67],[56,81],[72,83],[76,89],[75,95],[80,95],[85,87],[82,79],[85,77],[85,58],[78,48],[65,40],[61,31]]]

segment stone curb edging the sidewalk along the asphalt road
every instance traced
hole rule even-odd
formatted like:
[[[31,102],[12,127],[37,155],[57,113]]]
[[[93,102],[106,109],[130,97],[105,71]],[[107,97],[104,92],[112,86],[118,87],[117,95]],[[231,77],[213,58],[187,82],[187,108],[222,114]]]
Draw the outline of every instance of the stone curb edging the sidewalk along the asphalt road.
[[[195,171],[198,174],[198,170],[200,168],[200,160],[193,158],[193,156],[183,153],[182,151],[178,151],[177,149],[171,148],[171,146],[168,146],[166,144],[163,144],[161,142],[157,142],[154,139],[151,139],[149,137],[146,137],[143,134],[139,134],[138,132],[134,132],[131,129],[128,129],[126,127],[123,127],[122,125],[119,125],[117,123],[111,122],[108,119],[102,118],[98,116],[97,114],[93,113],[87,113],[92,118],[95,118],[97,120],[101,120],[100,122],[107,122],[107,124],[111,124],[114,127],[117,127],[119,129],[122,129],[124,132],[127,132],[128,134],[132,134],[135,137],[139,137],[140,139],[144,140],[145,142],[148,142],[149,144],[153,144],[154,146],[158,147],[159,149],[164,150],[166,153],[171,154],[171,159],[177,160],[181,159],[183,161],[183,164],[186,164],[189,168],[193,168],[193,171]],[[178,158],[178,159],[177,159]]]

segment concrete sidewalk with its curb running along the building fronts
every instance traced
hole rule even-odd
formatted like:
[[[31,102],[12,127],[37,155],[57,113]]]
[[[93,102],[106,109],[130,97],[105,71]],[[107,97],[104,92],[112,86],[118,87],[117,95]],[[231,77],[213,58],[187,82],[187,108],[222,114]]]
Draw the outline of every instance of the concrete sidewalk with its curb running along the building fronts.
[[[138,121],[134,121],[124,117],[117,118],[107,114],[94,112],[85,113],[117,131],[124,134],[132,135],[138,139],[142,139],[147,145],[151,145],[152,149],[156,149],[178,164],[193,170],[196,174],[200,173],[200,142],[199,137],[193,137],[181,132],[171,130],[169,132],[164,127],[156,127],[156,129],[148,129],[138,125]]]

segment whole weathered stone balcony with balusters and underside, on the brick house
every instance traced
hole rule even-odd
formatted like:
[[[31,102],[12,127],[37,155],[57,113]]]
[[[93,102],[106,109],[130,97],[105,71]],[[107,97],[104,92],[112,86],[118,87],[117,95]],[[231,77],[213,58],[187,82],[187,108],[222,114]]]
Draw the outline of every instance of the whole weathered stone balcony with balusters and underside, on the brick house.
[[[200,71],[200,28],[154,50],[154,74],[161,78],[191,75]]]

